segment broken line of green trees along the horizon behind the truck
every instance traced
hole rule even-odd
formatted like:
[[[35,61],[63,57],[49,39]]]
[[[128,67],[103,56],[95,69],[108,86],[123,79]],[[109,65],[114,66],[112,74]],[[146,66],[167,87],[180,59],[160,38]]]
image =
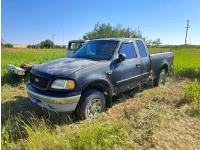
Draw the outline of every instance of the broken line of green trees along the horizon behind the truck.
[[[90,32],[87,32],[83,35],[82,39],[85,40],[92,40],[92,39],[99,39],[99,38],[118,38],[118,37],[123,37],[123,38],[142,38],[146,41],[147,45],[149,46],[158,46],[161,44],[161,41],[159,38],[152,40],[145,38],[141,31],[139,29],[133,30],[130,27],[122,27],[122,25],[116,25],[112,26],[109,23],[97,23],[94,26],[94,29],[92,29]],[[7,43],[3,44],[1,43],[3,47],[11,48],[13,47],[12,44]],[[44,40],[41,41],[38,44],[32,44],[28,45],[28,48],[45,48],[45,49],[51,49],[51,48],[64,48],[65,46],[61,45],[56,45],[52,40]]]

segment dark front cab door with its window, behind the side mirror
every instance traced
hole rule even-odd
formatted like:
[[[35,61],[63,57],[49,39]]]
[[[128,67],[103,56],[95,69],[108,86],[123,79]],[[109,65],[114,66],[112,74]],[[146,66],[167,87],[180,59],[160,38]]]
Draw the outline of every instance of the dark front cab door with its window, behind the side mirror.
[[[141,74],[141,61],[137,57],[135,47],[132,42],[121,45],[119,54],[125,54],[126,59],[119,64],[120,80],[116,82],[119,92],[123,92],[137,86]]]

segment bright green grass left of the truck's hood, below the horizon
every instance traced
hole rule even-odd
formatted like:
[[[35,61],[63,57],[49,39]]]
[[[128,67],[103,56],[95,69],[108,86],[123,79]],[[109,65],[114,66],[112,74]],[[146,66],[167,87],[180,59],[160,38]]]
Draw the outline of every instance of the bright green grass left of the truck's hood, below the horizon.
[[[20,66],[25,63],[42,63],[57,58],[63,58],[66,56],[65,49],[18,49],[18,48],[6,48],[2,49],[1,60],[1,82],[12,83],[19,81],[20,79],[12,76],[7,71],[7,65],[13,64]]]

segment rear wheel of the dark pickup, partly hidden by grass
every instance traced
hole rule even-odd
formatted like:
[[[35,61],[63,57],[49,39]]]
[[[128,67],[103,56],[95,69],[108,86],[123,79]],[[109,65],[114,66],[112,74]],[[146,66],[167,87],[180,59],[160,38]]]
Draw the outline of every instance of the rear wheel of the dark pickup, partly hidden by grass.
[[[166,83],[166,70],[162,69],[153,81],[154,86],[164,86]]]

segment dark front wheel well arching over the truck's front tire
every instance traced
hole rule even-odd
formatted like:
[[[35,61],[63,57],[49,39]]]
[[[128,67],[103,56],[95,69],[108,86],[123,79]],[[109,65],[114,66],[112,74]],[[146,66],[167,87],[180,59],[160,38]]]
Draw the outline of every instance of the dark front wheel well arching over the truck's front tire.
[[[106,83],[105,81],[92,82],[82,90],[82,93],[84,93],[90,89],[96,89],[96,90],[102,92],[106,98],[106,107],[112,106],[112,92],[111,92],[111,88],[108,83]]]

